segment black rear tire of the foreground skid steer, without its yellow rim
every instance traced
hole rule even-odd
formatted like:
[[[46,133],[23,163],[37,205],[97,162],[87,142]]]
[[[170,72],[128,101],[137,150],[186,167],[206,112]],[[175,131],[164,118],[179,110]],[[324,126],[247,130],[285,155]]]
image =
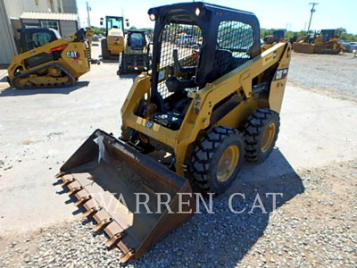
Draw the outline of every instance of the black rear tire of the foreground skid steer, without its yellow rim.
[[[275,134],[269,149],[263,152],[262,137],[270,123],[275,124]],[[279,127],[280,118],[277,112],[270,109],[256,110],[245,122],[245,159],[252,163],[265,161],[271,154],[278,139]]]

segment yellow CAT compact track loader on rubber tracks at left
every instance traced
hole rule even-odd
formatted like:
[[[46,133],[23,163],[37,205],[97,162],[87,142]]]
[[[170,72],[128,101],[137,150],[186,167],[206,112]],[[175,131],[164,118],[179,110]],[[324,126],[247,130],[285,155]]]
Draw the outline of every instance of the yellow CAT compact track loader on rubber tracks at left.
[[[13,88],[71,87],[90,70],[91,29],[61,38],[55,29],[20,31],[21,54],[12,57],[7,81]]]

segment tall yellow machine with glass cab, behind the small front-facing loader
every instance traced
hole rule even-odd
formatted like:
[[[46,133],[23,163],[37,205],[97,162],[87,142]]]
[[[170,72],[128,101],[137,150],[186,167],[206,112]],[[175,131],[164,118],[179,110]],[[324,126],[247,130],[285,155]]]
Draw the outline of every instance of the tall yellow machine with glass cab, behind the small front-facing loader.
[[[101,41],[102,57],[110,59],[119,56],[124,51],[124,18],[118,16],[105,16],[100,24],[105,23],[105,37]],[[127,26],[129,22],[127,20]]]

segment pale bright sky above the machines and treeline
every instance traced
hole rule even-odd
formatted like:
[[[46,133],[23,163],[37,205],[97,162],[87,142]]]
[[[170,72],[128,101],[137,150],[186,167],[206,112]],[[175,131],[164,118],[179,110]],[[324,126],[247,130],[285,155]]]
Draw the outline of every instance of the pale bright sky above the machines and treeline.
[[[180,0],[77,0],[81,27],[87,26],[87,2],[91,7],[90,21],[99,27],[105,15],[121,16],[129,19],[130,26],[154,28],[147,11],[151,7],[164,4],[184,3]],[[347,32],[357,34],[357,0],[210,0],[220,4],[255,13],[261,28],[288,29],[299,31],[307,29],[310,20],[311,2],[317,2],[311,29],[336,29],[343,27]]]

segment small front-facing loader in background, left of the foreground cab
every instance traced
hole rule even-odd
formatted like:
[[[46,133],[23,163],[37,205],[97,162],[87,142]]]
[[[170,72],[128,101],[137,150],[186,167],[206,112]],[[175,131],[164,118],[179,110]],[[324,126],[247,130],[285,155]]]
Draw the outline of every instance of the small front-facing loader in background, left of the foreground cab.
[[[149,42],[144,30],[128,30],[120,54],[118,75],[128,71],[147,71],[150,65]]]

